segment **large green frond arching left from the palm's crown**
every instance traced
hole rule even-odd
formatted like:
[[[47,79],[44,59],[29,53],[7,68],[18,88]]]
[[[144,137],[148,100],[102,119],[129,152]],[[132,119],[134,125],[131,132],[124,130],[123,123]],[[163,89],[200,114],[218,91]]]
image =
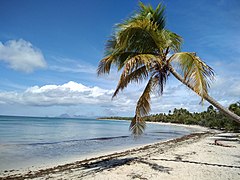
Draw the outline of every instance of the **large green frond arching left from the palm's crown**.
[[[106,57],[99,63],[98,75],[109,73],[112,64],[120,70],[128,59],[136,58],[136,55],[159,55],[163,43],[154,28],[153,24],[149,25],[146,21],[135,22],[120,31],[117,38],[112,37],[106,45]]]

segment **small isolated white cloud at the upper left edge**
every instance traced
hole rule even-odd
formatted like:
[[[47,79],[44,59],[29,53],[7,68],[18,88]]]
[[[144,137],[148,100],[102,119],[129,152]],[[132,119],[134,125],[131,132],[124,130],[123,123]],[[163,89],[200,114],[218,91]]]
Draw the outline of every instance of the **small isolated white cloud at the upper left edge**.
[[[9,40],[5,44],[0,42],[0,61],[14,70],[27,73],[46,67],[42,52],[23,39]]]

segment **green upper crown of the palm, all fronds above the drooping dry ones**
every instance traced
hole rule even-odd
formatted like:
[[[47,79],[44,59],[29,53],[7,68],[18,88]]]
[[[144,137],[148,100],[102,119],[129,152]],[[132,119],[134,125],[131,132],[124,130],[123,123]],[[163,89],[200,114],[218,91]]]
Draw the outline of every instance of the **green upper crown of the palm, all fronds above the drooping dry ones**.
[[[115,34],[108,40],[98,75],[109,73],[112,64],[121,70],[128,59],[139,54],[152,54],[164,59],[165,49],[179,51],[181,37],[164,30],[164,24],[164,7],[161,4],[154,10],[140,3],[139,13],[118,24]]]

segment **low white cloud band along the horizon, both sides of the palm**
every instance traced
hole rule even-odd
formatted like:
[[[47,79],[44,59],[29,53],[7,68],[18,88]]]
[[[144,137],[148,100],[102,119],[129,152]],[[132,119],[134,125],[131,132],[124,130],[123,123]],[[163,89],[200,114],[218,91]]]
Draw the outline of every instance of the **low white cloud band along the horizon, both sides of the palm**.
[[[217,82],[219,81],[217,80]],[[171,86],[166,86],[163,96],[152,95],[151,113],[168,112],[174,108],[186,108],[191,112],[206,110],[209,103],[205,102],[204,106],[200,105],[201,98],[194,92],[172,79],[169,83],[171,83]],[[222,105],[228,106],[238,100],[239,86],[220,91],[219,89],[223,89],[224,85],[224,83],[216,84],[211,91],[216,93],[211,95]],[[142,90],[143,84],[130,85],[128,89],[120,92],[116,98],[111,100],[114,90],[103,89],[98,86],[88,87],[70,81],[62,85],[33,86],[23,92],[0,92],[0,105],[35,107],[39,111],[42,108],[52,109],[52,111],[60,107],[66,107],[69,111],[78,108],[77,114],[91,111],[98,116],[132,116]],[[0,113],[5,114],[3,111],[0,111]]]

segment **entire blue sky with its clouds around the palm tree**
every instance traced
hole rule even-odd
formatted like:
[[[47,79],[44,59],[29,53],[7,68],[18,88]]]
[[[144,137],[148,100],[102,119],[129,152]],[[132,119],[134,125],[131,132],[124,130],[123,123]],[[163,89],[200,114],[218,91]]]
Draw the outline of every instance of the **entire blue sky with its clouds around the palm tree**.
[[[154,7],[160,1],[142,1]],[[184,38],[216,72],[210,95],[224,106],[240,100],[240,2],[165,0],[167,28]],[[111,101],[119,73],[97,77],[104,45],[116,23],[138,9],[137,0],[1,0],[0,114],[128,116],[144,83]],[[209,105],[170,78],[152,113]]]

